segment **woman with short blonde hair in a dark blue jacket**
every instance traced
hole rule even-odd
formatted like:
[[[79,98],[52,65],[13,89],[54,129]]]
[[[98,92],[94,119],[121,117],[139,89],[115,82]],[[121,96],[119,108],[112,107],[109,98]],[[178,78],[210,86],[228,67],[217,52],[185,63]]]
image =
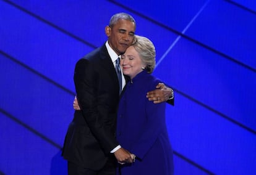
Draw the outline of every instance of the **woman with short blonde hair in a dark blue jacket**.
[[[160,79],[151,75],[155,68],[155,47],[143,36],[121,57],[121,68],[130,80],[119,102],[116,137],[129,150],[134,163],[119,165],[122,175],[173,174],[173,150],[165,121],[166,103],[154,104],[145,94]]]

